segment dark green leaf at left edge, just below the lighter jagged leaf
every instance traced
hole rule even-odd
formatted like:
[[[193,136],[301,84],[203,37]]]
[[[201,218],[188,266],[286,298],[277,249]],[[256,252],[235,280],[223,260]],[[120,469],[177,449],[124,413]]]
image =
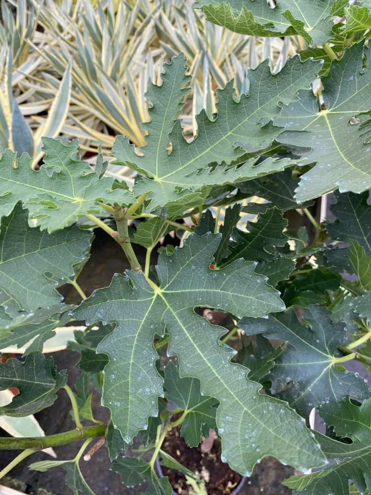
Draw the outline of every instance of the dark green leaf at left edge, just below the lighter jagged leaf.
[[[92,234],[73,225],[48,236],[30,229],[27,218],[17,204],[1,220],[0,287],[22,309],[33,311],[60,302],[55,288],[74,278],[75,268],[87,258]]]

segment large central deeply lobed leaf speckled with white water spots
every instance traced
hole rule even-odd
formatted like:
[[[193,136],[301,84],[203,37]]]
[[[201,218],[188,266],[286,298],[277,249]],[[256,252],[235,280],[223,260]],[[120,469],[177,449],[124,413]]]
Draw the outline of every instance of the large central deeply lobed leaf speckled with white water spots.
[[[247,370],[230,362],[232,349],[218,346],[223,330],[194,313],[195,306],[211,306],[237,318],[246,313],[256,317],[283,307],[278,293],[254,273],[253,263],[237,260],[210,270],[219,239],[193,235],[173,255],[162,253],[159,287],[152,288],[140,273],[117,275],[110,287],[93,293],[74,312],[88,324],[117,323],[97,348],[109,355],[103,404],[111,409],[113,424],[127,443],[145,428],[148,416],[157,415],[157,397],[163,391],[152,341],[166,326],[171,336],[168,352],[178,355],[182,376],[198,378],[201,393],[220,403],[217,426],[223,459],[233,469],[250,472],[265,455],[301,467],[303,459],[306,465],[319,465],[322,455],[300,417],[283,402],[260,395],[260,385],[246,380]],[[277,418],[284,436],[270,428]]]

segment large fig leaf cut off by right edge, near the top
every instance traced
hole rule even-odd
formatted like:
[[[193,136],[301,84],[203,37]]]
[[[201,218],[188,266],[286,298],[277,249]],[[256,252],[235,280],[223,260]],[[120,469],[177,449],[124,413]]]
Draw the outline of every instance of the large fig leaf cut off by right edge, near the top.
[[[369,121],[363,114],[370,110],[371,72],[368,49],[366,61],[363,51],[363,43],[359,43],[347,49],[341,60],[332,62],[328,76],[322,78],[323,105],[312,91],[301,91],[300,101],[284,106],[274,119],[276,125],[285,126],[278,141],[309,148],[304,159],[308,164],[316,162],[301,177],[296,189],[299,202],[334,189],[342,193],[370,189]]]

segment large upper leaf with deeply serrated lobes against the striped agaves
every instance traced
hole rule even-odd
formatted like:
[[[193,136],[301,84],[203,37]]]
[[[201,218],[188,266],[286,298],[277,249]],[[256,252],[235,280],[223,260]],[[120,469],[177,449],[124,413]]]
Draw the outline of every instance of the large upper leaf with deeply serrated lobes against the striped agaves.
[[[236,100],[232,82],[224,90],[218,90],[218,118],[210,121],[202,111],[197,117],[198,135],[187,143],[181,120],[175,120],[189,91],[185,88],[189,78],[185,76],[185,59],[181,54],[164,66],[162,85],[151,85],[147,93],[152,103],[151,120],[143,125],[148,136],[146,145],[140,148],[141,155],[135,152],[129,139],[119,136],[113,147],[114,163],[127,165],[142,175],[134,193],[150,193],[151,209],[172,206],[181,200],[183,211],[202,200],[207,186],[241,182],[283,170],[295,161],[268,157],[256,165],[257,158],[245,154],[270,147],[279,133],[278,127],[261,127],[257,123],[277,116],[278,103],[295,101],[297,92],[309,86],[319,69],[319,65],[302,63],[295,57],[281,72],[272,75],[269,64],[263,62],[251,71],[248,96]],[[295,78],[291,77],[293,73]],[[262,80],[264,92],[260,88]],[[268,81],[271,81],[269,90]],[[239,141],[246,135],[249,142],[241,148]],[[235,167],[241,163],[244,163],[241,167]]]

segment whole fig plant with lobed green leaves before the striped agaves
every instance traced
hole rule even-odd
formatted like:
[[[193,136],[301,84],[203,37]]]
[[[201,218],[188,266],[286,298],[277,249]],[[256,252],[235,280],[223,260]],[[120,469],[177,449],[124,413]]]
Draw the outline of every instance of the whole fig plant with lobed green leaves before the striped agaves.
[[[1,155],[0,349],[24,353],[0,364],[0,389],[18,392],[0,414],[37,413],[63,389],[76,429],[1,438],[0,448],[22,453],[0,477],[37,450],[84,440],[73,459],[30,469],[61,466],[73,493],[92,494],[80,460],[104,444],[135,493],[172,493],[158,462],[203,490],[165,449],[181,426],[191,447],[214,430],[222,460],[243,476],[266,456],[321,468],[287,480],[294,494],[371,490],[371,389],[347,368],[371,365],[371,13],[366,1],[294,3],[196,2],[209,20],[242,34],[295,33],[331,60],[324,70],[296,55],[276,74],[263,62],[247,73],[248,94],[237,98],[233,82],[218,90],[217,115],[201,111],[187,141],[179,114],[189,78],[183,54],[174,57],[146,94],[145,146],[118,136],[113,147],[111,163],[138,173],[133,188],[105,177],[100,155],[91,168],[74,141],[44,138],[40,170],[27,154]],[[311,208],[330,192],[319,223]],[[311,229],[289,225],[295,212]],[[87,297],[79,275],[95,228],[130,269]],[[62,284],[80,305],[63,302]],[[71,319],[87,325],[70,343],[81,354],[75,391],[43,354]],[[93,388],[106,423],[92,410]],[[325,434],[311,430],[313,409]]]

